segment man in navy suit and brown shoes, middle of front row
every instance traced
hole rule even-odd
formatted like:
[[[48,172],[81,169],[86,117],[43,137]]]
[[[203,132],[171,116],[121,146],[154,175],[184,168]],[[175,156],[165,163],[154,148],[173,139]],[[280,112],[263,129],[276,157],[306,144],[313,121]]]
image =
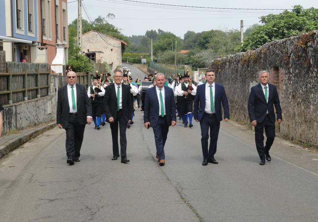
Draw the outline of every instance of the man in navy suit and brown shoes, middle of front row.
[[[169,126],[175,126],[176,104],[173,90],[164,86],[164,74],[158,73],[155,77],[156,86],[146,90],[143,122],[147,129],[150,125],[155,134],[157,160],[159,165],[165,164],[164,144],[167,140]]]

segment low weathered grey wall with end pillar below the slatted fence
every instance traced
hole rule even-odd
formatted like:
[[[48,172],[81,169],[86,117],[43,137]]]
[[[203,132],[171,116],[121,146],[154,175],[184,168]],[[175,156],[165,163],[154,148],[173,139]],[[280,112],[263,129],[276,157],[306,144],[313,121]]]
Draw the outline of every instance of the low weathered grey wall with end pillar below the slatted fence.
[[[50,75],[49,95],[3,106],[3,134],[56,120],[58,75]]]

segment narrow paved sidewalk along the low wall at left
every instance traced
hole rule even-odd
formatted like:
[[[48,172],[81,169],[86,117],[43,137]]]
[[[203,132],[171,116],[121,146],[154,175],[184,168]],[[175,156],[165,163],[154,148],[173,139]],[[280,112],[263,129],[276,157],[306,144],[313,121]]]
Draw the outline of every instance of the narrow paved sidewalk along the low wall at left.
[[[0,158],[17,149],[25,142],[56,126],[55,121],[47,124],[28,127],[16,133],[0,137]]]

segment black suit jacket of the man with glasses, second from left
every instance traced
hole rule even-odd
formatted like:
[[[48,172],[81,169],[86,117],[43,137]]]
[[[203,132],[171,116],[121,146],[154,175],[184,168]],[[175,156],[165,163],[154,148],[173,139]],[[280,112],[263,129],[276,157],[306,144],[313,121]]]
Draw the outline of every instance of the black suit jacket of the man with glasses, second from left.
[[[131,120],[131,115],[134,109],[134,102],[132,94],[130,93],[130,86],[121,84],[121,104],[122,104],[122,112],[123,117],[126,122]],[[109,118],[113,117],[116,120],[117,117],[117,85],[111,84],[105,88],[105,96],[104,96],[104,109],[106,111],[106,121],[109,122]]]

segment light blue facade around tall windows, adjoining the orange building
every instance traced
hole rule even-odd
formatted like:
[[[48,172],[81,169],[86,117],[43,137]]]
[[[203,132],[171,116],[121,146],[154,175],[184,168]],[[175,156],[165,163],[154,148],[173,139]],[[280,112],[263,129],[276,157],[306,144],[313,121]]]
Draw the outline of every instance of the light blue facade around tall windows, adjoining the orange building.
[[[0,0],[2,1],[2,0]],[[3,0],[4,1],[4,0]],[[13,25],[13,37],[23,39],[23,40],[31,40],[31,41],[39,41],[38,40],[38,1],[34,0],[34,9],[33,9],[33,16],[34,16],[34,37],[28,36],[28,23],[27,23],[27,0],[23,0],[23,23],[24,23],[24,35],[21,35],[19,33],[16,33],[16,27],[17,27],[17,16],[16,16],[16,10],[15,10],[15,4],[16,1],[12,1],[12,25]]]

